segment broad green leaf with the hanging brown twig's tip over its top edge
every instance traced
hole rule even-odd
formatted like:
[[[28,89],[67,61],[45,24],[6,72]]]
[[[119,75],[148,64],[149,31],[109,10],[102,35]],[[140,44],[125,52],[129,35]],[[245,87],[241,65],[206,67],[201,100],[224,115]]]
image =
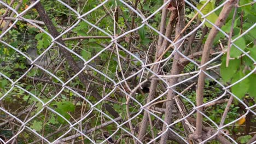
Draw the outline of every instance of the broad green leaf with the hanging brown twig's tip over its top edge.
[[[228,82],[236,73],[240,65],[240,59],[230,59],[229,67],[226,67],[226,56],[222,58],[222,65],[220,65],[220,76],[224,82]]]

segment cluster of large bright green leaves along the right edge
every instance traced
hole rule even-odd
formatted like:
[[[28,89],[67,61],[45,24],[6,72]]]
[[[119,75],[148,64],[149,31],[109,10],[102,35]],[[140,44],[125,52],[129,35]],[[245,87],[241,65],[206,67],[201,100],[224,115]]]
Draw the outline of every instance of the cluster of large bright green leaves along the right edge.
[[[245,5],[248,4],[248,0],[239,1],[240,5],[243,5],[241,8],[237,9],[237,14],[234,20],[234,31],[232,40],[239,37],[241,33],[246,32],[247,29],[251,28],[254,25],[252,18],[255,16],[255,6]],[[243,19],[241,19],[241,14],[243,15]],[[234,15],[234,11],[229,15],[227,22],[222,27],[224,32],[229,33],[232,25],[232,15]],[[249,55],[255,60],[256,59],[256,49],[252,44],[254,41],[255,28],[251,29],[247,34],[243,35],[243,37],[238,38],[234,44],[238,46],[241,50],[245,52],[249,52]],[[224,37],[220,37],[221,39],[225,39]],[[225,46],[227,48],[227,46]],[[223,78],[224,82],[234,83],[247,74],[249,74],[252,69],[255,68],[253,61],[247,57],[242,56],[242,51],[238,50],[234,45],[230,48],[230,57],[232,59],[229,60],[229,65],[226,67],[226,55],[222,57],[222,65],[220,66],[220,75]],[[238,98],[242,99],[246,94],[249,94],[252,98],[255,99],[255,92],[253,88],[255,85],[255,74],[249,75],[245,80],[238,82],[236,85],[231,87],[231,92],[234,93]]]

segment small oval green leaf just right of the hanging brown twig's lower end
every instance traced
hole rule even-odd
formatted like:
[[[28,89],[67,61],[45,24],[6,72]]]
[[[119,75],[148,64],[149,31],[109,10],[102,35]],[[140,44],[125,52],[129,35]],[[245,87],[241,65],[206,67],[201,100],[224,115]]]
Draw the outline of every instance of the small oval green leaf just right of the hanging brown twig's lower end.
[[[238,35],[233,37],[232,39],[235,39],[236,37],[238,37]],[[234,44],[242,50],[245,50],[245,48],[246,48],[246,42],[245,42],[245,39],[243,39],[243,38],[237,39],[234,42]],[[238,50],[234,45],[232,45],[230,48],[231,48],[230,49],[230,57],[238,57],[242,54],[242,52],[240,50]]]

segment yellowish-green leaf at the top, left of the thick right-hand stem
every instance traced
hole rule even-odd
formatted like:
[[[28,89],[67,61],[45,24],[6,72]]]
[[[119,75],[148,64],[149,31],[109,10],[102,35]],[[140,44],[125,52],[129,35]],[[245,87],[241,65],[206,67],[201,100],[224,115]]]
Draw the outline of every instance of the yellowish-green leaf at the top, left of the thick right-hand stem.
[[[197,5],[197,9],[201,9],[203,4],[205,4],[205,3],[206,3],[206,1],[201,1]],[[214,9],[214,4],[215,4],[215,1],[208,2],[206,4],[206,6],[201,10],[202,14],[206,15],[206,14],[210,13]],[[202,15],[199,14],[199,19],[201,19],[201,17],[202,17]],[[211,21],[212,23],[214,23],[218,19],[218,15],[216,13],[212,13],[212,14],[208,15],[206,17],[206,19]],[[205,22],[205,25],[210,28],[212,27],[212,25],[209,22]]]

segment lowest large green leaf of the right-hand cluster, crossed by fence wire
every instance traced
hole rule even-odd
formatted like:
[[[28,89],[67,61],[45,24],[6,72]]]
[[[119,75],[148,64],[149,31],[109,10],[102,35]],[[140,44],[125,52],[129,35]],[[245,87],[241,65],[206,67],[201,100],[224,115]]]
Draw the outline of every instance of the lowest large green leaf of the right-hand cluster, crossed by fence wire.
[[[240,70],[232,79],[231,83],[235,83],[238,80],[242,79],[245,76],[245,74],[242,73],[242,70]],[[231,92],[236,95],[236,97],[242,99],[243,96],[248,92],[249,89],[249,79],[248,77],[240,82],[238,82],[236,85],[231,87]]]

